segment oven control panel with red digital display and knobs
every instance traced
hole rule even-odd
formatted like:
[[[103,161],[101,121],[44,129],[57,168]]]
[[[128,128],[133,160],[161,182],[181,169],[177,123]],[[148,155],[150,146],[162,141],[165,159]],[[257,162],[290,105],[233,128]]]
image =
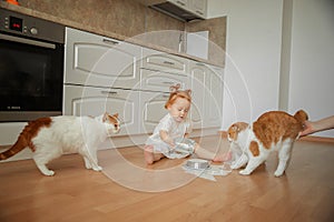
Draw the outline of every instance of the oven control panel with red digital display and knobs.
[[[43,19],[0,9],[0,31],[53,42],[65,42],[65,27]]]

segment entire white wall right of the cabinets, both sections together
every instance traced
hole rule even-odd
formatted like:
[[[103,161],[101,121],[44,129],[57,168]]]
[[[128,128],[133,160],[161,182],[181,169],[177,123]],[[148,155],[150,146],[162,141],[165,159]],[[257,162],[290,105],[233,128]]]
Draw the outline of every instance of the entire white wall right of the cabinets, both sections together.
[[[229,57],[222,130],[277,109],[278,102],[289,113],[304,109],[311,120],[334,114],[333,0],[208,0],[208,17],[222,16],[227,16]],[[291,22],[284,32],[283,19]],[[282,43],[288,49],[281,58]],[[334,130],[315,135],[334,138]]]

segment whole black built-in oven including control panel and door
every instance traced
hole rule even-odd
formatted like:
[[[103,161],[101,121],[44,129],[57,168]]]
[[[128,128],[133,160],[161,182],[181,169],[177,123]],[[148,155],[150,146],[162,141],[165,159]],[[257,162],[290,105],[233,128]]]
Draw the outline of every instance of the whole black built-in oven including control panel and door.
[[[61,114],[65,27],[0,9],[0,122]]]

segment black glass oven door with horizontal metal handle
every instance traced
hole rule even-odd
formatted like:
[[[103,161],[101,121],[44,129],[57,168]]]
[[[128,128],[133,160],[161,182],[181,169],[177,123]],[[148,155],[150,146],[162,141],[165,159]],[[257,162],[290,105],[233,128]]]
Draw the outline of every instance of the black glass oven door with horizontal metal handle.
[[[0,33],[0,122],[61,114],[63,44]]]

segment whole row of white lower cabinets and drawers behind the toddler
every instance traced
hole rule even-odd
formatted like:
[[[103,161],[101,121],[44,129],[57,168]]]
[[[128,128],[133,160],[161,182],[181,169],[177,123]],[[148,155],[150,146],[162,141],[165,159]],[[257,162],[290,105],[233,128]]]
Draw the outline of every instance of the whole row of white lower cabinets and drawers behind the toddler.
[[[119,135],[151,133],[167,113],[170,85],[179,83],[193,91],[194,129],[220,125],[222,75],[213,67],[129,43],[118,48],[122,42],[75,29],[66,42],[63,114],[118,112]]]

